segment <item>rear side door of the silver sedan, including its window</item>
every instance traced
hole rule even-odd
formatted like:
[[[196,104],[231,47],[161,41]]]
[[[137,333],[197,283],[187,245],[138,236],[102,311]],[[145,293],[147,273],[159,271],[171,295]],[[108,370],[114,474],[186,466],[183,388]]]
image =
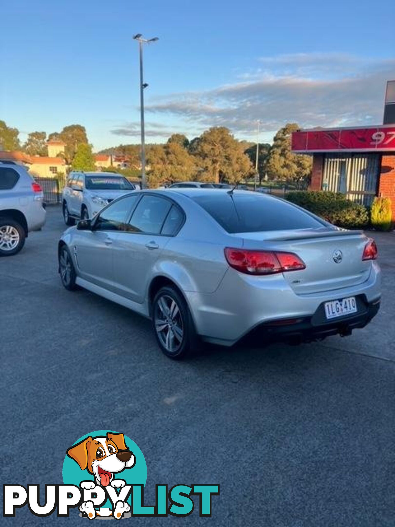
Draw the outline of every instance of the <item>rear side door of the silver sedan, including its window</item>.
[[[142,304],[152,268],[170,239],[163,230],[173,210],[173,202],[163,196],[144,194],[127,229],[118,233],[114,244],[114,274],[118,293]],[[181,209],[177,207],[179,216]]]

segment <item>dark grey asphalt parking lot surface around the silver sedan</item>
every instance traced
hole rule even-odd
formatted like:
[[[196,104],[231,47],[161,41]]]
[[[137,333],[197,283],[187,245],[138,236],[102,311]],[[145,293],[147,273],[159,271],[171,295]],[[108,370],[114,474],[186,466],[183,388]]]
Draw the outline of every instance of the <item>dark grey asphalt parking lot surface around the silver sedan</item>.
[[[395,235],[375,233],[382,307],[351,337],[222,349],[173,362],[151,324],[87,291],[66,291],[59,207],[0,260],[1,482],[62,483],[66,449],[94,430],[130,436],[155,484],[220,484],[212,518],[186,525],[395,525]],[[33,516],[5,525],[83,525]],[[174,519],[124,519],[168,525]],[[50,522],[50,523],[48,523]]]

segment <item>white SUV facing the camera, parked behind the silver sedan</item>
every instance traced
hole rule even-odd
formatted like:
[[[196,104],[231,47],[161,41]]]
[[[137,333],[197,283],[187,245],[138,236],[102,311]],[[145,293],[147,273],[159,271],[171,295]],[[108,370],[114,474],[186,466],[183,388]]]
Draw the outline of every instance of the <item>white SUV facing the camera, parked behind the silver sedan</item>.
[[[70,172],[62,194],[66,225],[93,218],[108,203],[135,190],[133,183],[114,172]]]

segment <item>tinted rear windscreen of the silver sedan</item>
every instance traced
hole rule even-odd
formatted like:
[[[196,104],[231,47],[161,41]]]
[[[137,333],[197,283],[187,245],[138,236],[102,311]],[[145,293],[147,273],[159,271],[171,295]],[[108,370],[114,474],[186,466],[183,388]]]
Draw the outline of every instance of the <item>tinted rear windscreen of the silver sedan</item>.
[[[191,196],[228,232],[317,229],[324,224],[286,201],[234,192]]]

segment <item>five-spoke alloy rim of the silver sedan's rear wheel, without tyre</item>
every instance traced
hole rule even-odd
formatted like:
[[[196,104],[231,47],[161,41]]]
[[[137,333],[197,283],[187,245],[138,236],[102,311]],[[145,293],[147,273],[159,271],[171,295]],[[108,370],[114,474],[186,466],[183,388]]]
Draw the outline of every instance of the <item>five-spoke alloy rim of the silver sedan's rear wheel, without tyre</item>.
[[[154,308],[155,331],[162,346],[175,353],[182,345],[184,325],[177,302],[169,295],[160,296]]]

